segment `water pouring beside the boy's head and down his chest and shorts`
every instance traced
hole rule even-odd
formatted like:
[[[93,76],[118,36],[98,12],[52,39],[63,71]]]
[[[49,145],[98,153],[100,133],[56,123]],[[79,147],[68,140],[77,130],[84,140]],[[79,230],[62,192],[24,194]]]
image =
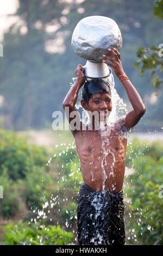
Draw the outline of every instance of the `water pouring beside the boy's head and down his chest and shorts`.
[[[74,83],[76,82],[76,78],[72,78],[72,80],[73,80]],[[112,111],[111,111],[111,114],[109,115],[109,117],[106,120],[106,124],[111,127],[112,124],[114,124],[117,120],[126,116],[128,111],[127,111],[127,108],[126,108],[126,104],[123,103],[123,100],[120,98],[120,96],[117,94],[116,89],[114,88],[115,83],[114,83],[114,77],[112,76],[112,74],[111,74],[111,78],[110,77],[109,78],[104,78],[103,80],[105,82],[109,83],[110,90],[111,90]],[[87,78],[87,81],[90,81],[90,79]],[[74,83],[71,83],[71,86],[73,86]],[[82,107],[81,104],[80,104],[81,100],[82,100],[82,88],[80,88],[79,94],[78,94],[78,100],[77,100],[77,103],[76,103],[76,108],[77,109]],[[80,120],[84,124],[89,125],[90,124],[89,114],[87,113],[87,111],[85,111],[85,109],[83,109],[83,111],[85,112],[84,115],[83,115],[84,118],[82,120],[81,119]],[[99,122],[99,128],[100,128],[99,133],[101,133],[101,135],[102,135],[102,132],[104,131],[104,129],[103,129],[104,128],[104,122]],[[103,133],[103,135],[104,135],[104,133]],[[109,149],[110,140],[107,137],[107,134],[106,134],[106,136],[103,136],[103,135],[101,137],[102,138],[101,150],[103,152],[102,159],[101,159],[101,167],[102,167],[102,171],[103,171],[102,193],[106,193],[106,191],[105,191],[105,181],[110,176],[114,177],[114,165],[115,165],[116,159],[115,159],[114,153],[112,153],[112,151]],[[124,133],[122,136],[126,137],[127,133]],[[105,147],[105,144],[107,145],[106,147]],[[110,173],[109,173],[109,177],[108,177],[108,175],[106,174],[106,171],[105,171],[105,166],[107,164],[106,157],[109,154],[112,156],[112,164],[110,164]],[[90,164],[93,164],[93,157],[92,157],[92,162],[90,162]],[[91,174],[92,174],[92,181],[93,181],[94,177],[93,177],[93,172],[92,171],[91,171]],[[116,189],[116,184],[112,184],[112,191],[114,191],[115,189]],[[99,197],[97,198],[97,196],[95,196],[95,198],[93,199],[92,205],[95,207],[95,210],[96,210],[95,218],[98,218],[99,215],[103,214],[101,210],[104,207],[104,205],[103,205],[101,199]],[[96,223],[96,225],[97,225],[97,223]],[[98,230],[98,227],[96,227],[96,228]],[[95,239],[95,237],[96,237],[96,239]],[[98,240],[98,244],[102,244],[102,242],[104,241],[103,237],[100,237],[99,233],[95,234],[95,237],[92,240],[94,242],[95,242],[95,240]],[[98,239],[97,239],[97,237],[98,237]]]

